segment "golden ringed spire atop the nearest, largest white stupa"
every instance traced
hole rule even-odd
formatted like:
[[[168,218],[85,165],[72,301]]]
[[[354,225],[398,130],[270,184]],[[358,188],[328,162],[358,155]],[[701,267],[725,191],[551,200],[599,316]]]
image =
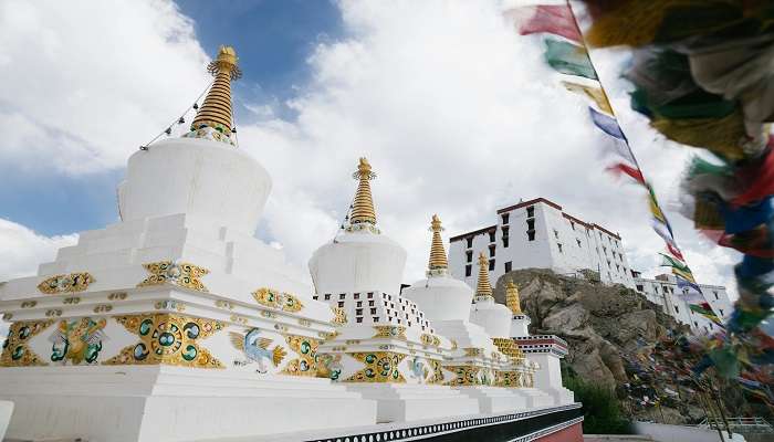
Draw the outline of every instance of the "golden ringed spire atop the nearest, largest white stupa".
[[[231,136],[231,81],[242,76],[237,65],[238,60],[233,48],[220,46],[218,59],[207,66],[207,71],[215,76],[215,82],[191,123],[191,130],[210,127],[227,137]]]

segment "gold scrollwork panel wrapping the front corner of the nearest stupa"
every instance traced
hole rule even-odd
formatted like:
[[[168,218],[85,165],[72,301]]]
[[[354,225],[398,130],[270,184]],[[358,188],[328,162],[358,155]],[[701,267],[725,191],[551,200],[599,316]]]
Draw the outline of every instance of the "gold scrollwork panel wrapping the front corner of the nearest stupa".
[[[115,319],[139,343],[125,347],[103,365],[169,365],[192,368],[224,368],[201,340],[226,328],[226,324],[175,314],[116,316]]]

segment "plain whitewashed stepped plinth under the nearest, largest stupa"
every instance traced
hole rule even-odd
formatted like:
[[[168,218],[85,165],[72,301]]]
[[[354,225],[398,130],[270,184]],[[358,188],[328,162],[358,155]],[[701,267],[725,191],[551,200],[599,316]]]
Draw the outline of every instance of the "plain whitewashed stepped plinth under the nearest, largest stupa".
[[[180,367],[3,370],[8,438],[190,441],[368,425],[376,404],[320,378]]]

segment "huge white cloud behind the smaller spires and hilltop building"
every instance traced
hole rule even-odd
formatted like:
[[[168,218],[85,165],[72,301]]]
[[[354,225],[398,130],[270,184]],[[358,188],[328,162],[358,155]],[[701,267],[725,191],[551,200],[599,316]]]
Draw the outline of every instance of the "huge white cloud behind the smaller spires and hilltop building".
[[[541,196],[620,232],[632,263],[658,271],[663,245],[650,231],[645,194],[603,172],[608,140],[590,126],[585,102],[545,67],[540,39],[517,36],[494,3],[339,7],[349,36],[310,57],[313,81],[292,102],[297,119],[240,133],[242,148],[274,175],[268,224],[292,257],[305,261],[330,239],[321,225],[335,229],[354,190],[349,172],[365,155],[379,173],[373,188],[383,230],[409,252],[407,282],[423,272],[430,214],[459,233],[494,222],[499,207]],[[636,154],[670,198],[687,150],[655,140],[628,108],[617,80],[623,59],[599,57]],[[289,215],[301,204],[316,209]],[[671,218],[700,281],[729,284],[730,254]],[[303,232],[303,241],[287,232]]]

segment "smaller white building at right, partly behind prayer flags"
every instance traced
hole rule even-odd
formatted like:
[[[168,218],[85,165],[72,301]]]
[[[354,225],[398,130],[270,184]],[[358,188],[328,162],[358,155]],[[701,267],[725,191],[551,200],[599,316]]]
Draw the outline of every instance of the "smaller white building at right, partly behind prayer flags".
[[[637,274],[637,273],[636,273]],[[699,284],[704,299],[718,317],[725,322],[733,309],[725,287],[721,285]],[[678,322],[689,325],[695,334],[712,334],[718,332],[718,326],[703,315],[691,311],[686,302],[683,290],[678,287],[674,275],[661,274],[655,278],[635,277],[635,288],[644,294],[648,301],[658,304],[663,313]]]

